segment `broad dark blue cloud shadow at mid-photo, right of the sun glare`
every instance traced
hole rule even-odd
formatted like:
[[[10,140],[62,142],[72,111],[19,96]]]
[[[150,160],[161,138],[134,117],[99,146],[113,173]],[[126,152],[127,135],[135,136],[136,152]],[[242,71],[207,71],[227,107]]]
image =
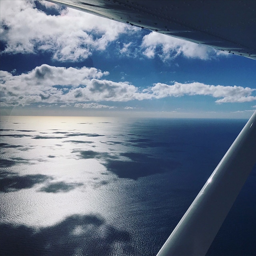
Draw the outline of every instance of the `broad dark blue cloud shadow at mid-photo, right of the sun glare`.
[[[130,158],[130,161],[108,159],[104,164],[106,168],[118,175],[119,178],[137,180],[140,177],[156,173],[172,171],[181,166],[179,162],[168,158],[156,158],[141,153],[122,153],[120,156]]]

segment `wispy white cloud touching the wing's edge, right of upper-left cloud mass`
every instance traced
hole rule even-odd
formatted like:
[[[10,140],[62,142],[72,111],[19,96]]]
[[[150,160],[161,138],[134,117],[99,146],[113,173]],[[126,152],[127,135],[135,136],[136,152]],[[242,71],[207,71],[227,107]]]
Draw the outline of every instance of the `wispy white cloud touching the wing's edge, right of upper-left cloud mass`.
[[[183,55],[186,58],[208,60],[214,56],[227,54],[226,52],[156,32],[151,32],[143,37],[141,48],[146,57],[154,58],[158,55],[163,61],[176,58],[179,55]]]

